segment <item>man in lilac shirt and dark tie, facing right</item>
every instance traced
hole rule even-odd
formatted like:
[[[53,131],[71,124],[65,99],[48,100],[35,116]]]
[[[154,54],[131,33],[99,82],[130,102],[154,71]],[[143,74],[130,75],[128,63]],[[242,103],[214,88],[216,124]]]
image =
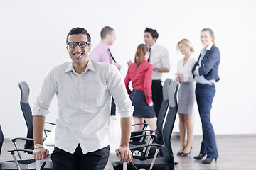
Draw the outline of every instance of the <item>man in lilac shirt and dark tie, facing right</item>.
[[[121,69],[121,65],[114,60],[109,48],[110,45],[114,44],[114,40],[116,40],[114,29],[109,26],[105,26],[100,32],[100,37],[100,43],[89,54],[90,59],[95,60],[96,62],[107,62],[114,64],[117,69]],[[116,115],[116,106],[113,98],[110,115],[112,118],[115,118]]]

